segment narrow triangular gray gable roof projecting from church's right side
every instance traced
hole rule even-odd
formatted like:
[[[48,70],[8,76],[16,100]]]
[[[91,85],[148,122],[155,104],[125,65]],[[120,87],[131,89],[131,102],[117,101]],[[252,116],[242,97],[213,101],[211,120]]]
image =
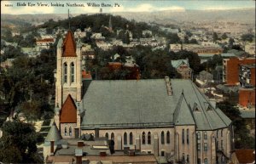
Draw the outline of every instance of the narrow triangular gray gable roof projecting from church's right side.
[[[186,102],[184,94],[182,93],[177,107],[174,110],[174,123],[175,125],[194,125],[195,120],[189,108],[189,105]]]

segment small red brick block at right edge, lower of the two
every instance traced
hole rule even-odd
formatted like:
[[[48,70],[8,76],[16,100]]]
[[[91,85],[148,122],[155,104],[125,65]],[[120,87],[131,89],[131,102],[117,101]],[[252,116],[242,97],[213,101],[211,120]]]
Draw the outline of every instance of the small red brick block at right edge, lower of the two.
[[[239,105],[244,107],[255,106],[255,88],[239,89]]]

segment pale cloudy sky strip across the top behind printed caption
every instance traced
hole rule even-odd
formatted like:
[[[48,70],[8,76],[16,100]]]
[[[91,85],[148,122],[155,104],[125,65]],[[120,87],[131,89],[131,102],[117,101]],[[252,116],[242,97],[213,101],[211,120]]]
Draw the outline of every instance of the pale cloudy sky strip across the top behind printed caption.
[[[18,6],[17,3],[26,4]],[[28,4],[31,4],[29,6]],[[67,3],[74,5],[83,5],[83,7],[67,6]],[[96,7],[89,6],[93,3]],[[105,5],[102,6],[102,3]],[[32,6],[34,4],[34,6]],[[46,4],[47,6],[38,6]],[[52,5],[54,4],[54,5]],[[55,5],[57,4],[57,6]],[[60,5],[61,4],[61,5]],[[106,6],[109,4],[111,6]],[[62,7],[62,5],[64,7]],[[195,10],[216,10],[216,9],[237,9],[237,8],[255,8],[254,0],[87,0],[87,1],[1,1],[1,14],[67,14],[67,9],[72,14],[99,13],[102,8],[103,13],[113,12],[154,12],[154,11],[185,11]]]

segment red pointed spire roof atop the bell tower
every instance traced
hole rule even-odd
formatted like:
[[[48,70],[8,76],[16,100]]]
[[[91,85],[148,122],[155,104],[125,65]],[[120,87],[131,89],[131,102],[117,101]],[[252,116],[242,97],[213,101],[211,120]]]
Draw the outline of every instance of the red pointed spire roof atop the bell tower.
[[[72,31],[67,31],[67,36],[63,42],[63,57],[76,57],[76,42]]]

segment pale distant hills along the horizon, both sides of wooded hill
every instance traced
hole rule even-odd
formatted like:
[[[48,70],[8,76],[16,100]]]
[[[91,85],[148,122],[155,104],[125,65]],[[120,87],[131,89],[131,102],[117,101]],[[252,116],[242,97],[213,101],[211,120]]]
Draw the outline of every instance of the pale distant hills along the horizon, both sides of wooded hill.
[[[255,24],[255,11],[253,8],[230,9],[230,10],[167,10],[160,12],[119,12],[111,13],[119,15],[127,20],[144,22],[156,22],[166,24],[172,22],[216,22],[229,21],[247,24]],[[75,17],[79,14],[72,14]],[[90,14],[88,14],[90,15]],[[27,22],[32,25],[43,24],[49,19],[65,20],[67,14],[1,14],[1,25]]]

